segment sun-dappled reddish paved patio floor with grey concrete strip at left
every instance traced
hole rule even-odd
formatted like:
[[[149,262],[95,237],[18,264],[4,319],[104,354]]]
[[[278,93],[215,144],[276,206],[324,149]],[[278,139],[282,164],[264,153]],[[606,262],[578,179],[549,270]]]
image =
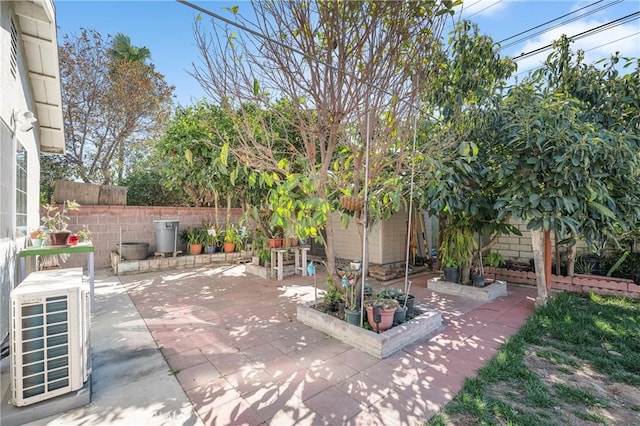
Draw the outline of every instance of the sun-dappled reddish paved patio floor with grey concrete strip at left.
[[[426,288],[432,276],[411,277],[411,293],[441,311],[444,327],[383,360],[296,321],[296,304],[314,299],[313,277],[264,280],[235,265],[108,276],[101,288],[99,276],[93,327],[139,320],[135,332],[92,342],[89,406],[36,424],[422,424],[524,324],[535,301],[533,289],[512,285],[488,303],[437,294]],[[325,288],[324,274],[317,282]],[[136,341],[166,364],[126,362]],[[160,350],[149,354],[153,342]],[[109,377],[106,355],[118,353],[120,374]],[[155,382],[135,383],[149,374]],[[117,401],[108,396],[115,393]]]

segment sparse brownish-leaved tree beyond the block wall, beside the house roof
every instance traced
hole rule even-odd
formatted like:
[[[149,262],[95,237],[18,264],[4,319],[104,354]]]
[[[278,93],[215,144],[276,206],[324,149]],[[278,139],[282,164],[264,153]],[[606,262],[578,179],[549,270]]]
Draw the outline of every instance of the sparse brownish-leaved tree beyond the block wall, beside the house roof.
[[[88,30],[65,35],[59,49],[66,162],[85,182],[122,179],[171,109],[173,87],[164,77],[144,61],[114,58],[111,49]]]

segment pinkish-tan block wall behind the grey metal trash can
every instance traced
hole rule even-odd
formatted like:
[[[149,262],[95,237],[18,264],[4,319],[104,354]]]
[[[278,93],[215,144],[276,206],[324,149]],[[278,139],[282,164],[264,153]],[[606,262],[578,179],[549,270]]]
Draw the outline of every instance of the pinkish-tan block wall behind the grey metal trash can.
[[[44,212],[41,212],[44,214]],[[231,223],[238,224],[242,209],[231,209]],[[87,225],[92,233],[95,247],[95,267],[108,267],[110,253],[120,242],[149,243],[149,250],[155,251],[156,235],[154,220],[178,220],[178,249],[186,252],[180,241],[180,232],[190,226],[201,226],[203,221],[214,222],[215,209],[209,207],[137,207],[137,206],[88,206],[69,212],[69,229],[77,232]],[[218,210],[221,227],[226,220],[226,208]],[[64,267],[87,267],[87,256],[69,256]]]

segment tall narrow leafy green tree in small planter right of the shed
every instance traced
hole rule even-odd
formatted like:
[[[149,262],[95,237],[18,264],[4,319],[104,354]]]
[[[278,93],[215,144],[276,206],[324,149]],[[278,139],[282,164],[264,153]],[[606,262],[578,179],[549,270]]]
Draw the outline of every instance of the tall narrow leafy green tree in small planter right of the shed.
[[[466,283],[474,233],[491,235],[495,241],[501,233],[517,232],[509,218],[498,219],[493,208],[494,182],[486,175],[496,131],[485,125],[491,120],[493,96],[501,93],[515,64],[502,58],[493,40],[468,21],[456,25],[447,46],[442,65],[431,76],[434,90],[425,96],[438,119],[426,120],[421,127],[415,159],[417,198],[421,208],[440,218],[440,241],[459,242],[440,250],[440,260],[459,267]]]

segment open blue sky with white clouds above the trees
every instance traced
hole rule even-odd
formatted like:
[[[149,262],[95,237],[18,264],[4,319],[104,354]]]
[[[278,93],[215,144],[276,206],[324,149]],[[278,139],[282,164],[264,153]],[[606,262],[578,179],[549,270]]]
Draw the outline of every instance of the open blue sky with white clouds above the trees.
[[[230,15],[226,8],[231,6],[239,6],[240,13],[251,7],[245,1],[192,0],[192,3],[226,16]],[[176,87],[176,104],[187,106],[205,97],[189,75],[192,64],[200,60],[193,38],[197,11],[173,0],[54,0],[54,5],[59,41],[65,34],[79,34],[81,28],[97,30],[103,38],[124,33],[131,38],[132,45],[151,50],[156,69]],[[501,54],[516,57],[546,46],[562,34],[580,34],[638,12],[640,0],[465,0],[456,17],[477,23],[480,32],[496,42],[507,39],[501,43]],[[566,14],[569,15],[547,23]],[[572,48],[584,50],[587,61],[608,58],[616,51],[623,56],[640,57],[640,13],[628,19],[577,40]],[[545,23],[537,30],[510,38]],[[519,59],[518,78],[539,67],[549,53],[547,50]]]

